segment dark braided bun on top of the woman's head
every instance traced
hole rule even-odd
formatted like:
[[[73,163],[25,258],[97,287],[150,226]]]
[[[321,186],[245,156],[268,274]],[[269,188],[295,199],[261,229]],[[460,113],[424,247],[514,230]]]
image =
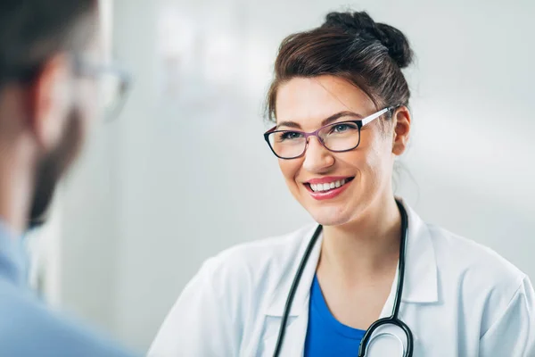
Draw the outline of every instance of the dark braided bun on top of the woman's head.
[[[342,29],[356,37],[380,41],[399,68],[406,68],[412,62],[413,52],[407,37],[399,29],[376,23],[367,12],[330,12],[322,28]]]

